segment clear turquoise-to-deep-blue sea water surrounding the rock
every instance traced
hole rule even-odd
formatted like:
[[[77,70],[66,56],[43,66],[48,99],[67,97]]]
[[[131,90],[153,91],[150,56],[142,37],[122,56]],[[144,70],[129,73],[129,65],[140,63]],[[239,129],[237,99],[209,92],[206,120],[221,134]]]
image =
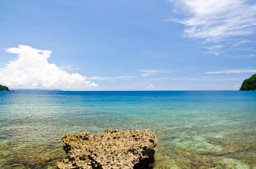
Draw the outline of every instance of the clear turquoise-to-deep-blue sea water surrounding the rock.
[[[256,169],[256,92],[0,92],[0,168],[56,168],[61,136],[153,130],[155,169]]]

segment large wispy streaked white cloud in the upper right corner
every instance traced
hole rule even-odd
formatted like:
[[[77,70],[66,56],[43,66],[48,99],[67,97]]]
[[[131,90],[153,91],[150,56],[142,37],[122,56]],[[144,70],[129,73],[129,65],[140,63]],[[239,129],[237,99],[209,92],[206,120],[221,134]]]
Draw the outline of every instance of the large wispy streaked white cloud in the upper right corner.
[[[230,37],[252,35],[256,26],[256,4],[249,0],[170,0],[174,12],[185,19],[169,19],[187,26],[184,34],[221,42]]]

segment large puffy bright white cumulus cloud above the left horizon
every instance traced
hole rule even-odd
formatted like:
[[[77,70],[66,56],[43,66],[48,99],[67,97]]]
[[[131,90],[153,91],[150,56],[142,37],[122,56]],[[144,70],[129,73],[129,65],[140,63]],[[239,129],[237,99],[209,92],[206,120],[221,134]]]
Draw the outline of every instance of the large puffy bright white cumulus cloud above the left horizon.
[[[59,88],[84,90],[98,85],[86,81],[78,73],[68,73],[55,64],[48,63],[52,51],[38,50],[31,46],[19,45],[18,48],[5,49],[18,54],[0,69],[0,82],[10,88]]]

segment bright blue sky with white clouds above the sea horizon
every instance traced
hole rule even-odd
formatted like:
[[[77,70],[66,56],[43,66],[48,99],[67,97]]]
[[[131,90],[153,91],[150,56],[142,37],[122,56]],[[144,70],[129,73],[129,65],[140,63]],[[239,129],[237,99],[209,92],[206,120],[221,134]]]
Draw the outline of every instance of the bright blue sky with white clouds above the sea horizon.
[[[1,0],[0,84],[238,90],[255,29],[252,0]]]

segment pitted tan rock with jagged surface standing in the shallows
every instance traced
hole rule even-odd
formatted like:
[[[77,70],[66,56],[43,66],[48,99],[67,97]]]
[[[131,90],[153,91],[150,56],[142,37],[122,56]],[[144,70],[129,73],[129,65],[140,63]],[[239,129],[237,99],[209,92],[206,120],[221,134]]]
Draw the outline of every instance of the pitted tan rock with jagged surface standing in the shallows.
[[[71,133],[61,137],[66,156],[59,169],[152,168],[157,138],[145,130]]]

